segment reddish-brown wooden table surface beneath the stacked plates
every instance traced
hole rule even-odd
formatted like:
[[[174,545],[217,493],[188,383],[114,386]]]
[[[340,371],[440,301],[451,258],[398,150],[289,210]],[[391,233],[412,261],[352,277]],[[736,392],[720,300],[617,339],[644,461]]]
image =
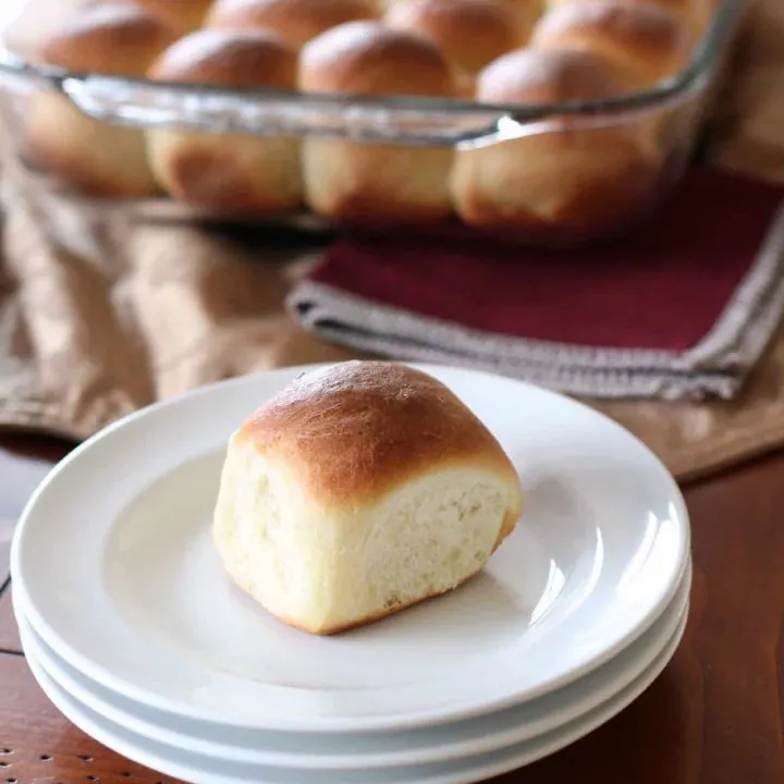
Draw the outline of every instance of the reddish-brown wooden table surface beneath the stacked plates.
[[[0,571],[36,482],[68,448],[0,440]],[[657,683],[571,748],[498,781],[784,782],[784,454],[687,488],[695,585],[684,642]],[[57,579],[57,575],[52,575]],[[27,671],[0,596],[0,784],[171,782],[61,718]]]

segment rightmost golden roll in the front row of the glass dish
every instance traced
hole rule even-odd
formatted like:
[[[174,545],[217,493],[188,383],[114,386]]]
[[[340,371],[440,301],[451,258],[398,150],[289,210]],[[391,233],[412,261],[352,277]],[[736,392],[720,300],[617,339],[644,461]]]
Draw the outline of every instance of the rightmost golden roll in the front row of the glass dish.
[[[588,51],[520,49],[479,74],[488,103],[604,100],[625,90],[615,71]],[[637,124],[585,127],[554,118],[549,128],[460,151],[452,177],[458,215],[475,226],[556,229],[567,238],[614,228],[650,193],[656,158]],[[630,121],[627,121],[630,123]]]

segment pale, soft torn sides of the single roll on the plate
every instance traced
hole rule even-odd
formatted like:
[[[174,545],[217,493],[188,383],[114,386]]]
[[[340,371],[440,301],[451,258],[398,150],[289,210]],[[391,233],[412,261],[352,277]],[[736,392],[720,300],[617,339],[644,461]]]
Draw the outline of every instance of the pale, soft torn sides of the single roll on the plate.
[[[234,445],[226,458],[216,548],[241,589],[309,634],[364,626],[454,590],[516,524],[511,488],[471,468],[426,475],[376,503],[302,509],[286,476],[252,449]]]

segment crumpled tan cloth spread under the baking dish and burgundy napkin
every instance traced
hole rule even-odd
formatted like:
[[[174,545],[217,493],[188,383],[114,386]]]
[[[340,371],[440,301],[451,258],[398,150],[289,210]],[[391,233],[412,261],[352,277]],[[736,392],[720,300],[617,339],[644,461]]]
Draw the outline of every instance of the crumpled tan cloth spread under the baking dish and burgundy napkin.
[[[784,2],[758,0],[749,21],[711,155],[784,179]],[[305,334],[284,310],[314,249],[303,238],[134,223],[48,203],[9,156],[1,182],[7,428],[83,439],[206,382],[353,356]],[[703,476],[784,443],[784,328],[733,402],[587,402],[682,481]]]

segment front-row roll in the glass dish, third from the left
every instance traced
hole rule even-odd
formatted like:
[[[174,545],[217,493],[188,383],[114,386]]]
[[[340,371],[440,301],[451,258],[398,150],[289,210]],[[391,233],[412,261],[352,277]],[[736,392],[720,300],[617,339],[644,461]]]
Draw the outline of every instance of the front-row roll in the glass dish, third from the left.
[[[372,22],[334,27],[305,46],[306,93],[454,97],[457,79],[434,44]],[[304,150],[306,198],[316,212],[365,222],[429,222],[451,211],[451,149],[311,137]]]

